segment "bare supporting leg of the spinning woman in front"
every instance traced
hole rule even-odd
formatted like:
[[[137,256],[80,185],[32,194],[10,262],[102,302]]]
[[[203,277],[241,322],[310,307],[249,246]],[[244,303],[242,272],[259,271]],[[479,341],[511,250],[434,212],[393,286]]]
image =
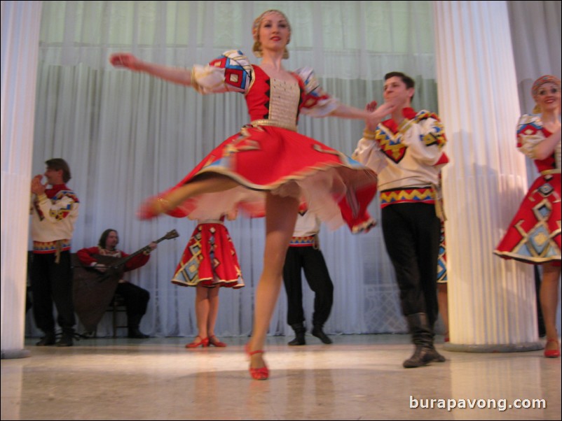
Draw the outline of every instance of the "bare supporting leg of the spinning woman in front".
[[[266,250],[263,271],[256,288],[254,328],[248,350],[263,350],[271,315],[277,304],[282,283],[283,264],[299,211],[299,201],[289,197],[268,194],[266,199]],[[265,366],[262,354],[252,355],[250,366]]]

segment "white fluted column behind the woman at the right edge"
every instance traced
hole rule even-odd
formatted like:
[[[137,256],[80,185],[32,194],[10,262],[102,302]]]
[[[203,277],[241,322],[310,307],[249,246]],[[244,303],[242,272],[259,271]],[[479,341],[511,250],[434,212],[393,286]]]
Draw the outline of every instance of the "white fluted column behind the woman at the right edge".
[[[505,1],[434,1],[451,343],[511,352],[538,342],[532,267],[493,255],[526,193],[519,98]]]

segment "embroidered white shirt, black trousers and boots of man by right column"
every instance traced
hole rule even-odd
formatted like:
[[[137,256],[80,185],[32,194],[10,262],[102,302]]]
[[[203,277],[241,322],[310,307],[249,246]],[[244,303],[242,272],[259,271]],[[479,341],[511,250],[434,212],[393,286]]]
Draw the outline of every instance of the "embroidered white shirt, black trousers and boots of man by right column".
[[[439,237],[443,213],[440,172],[448,162],[444,128],[434,113],[404,108],[404,120],[385,120],[364,131],[355,150],[359,162],[378,174],[386,249],[400,288],[416,352],[411,368],[445,359],[434,348],[437,321]]]

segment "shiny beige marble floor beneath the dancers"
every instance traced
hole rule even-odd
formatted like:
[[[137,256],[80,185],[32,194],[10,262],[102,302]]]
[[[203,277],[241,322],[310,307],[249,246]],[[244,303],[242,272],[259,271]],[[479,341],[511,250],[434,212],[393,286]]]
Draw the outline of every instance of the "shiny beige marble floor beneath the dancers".
[[[71,348],[39,348],[29,338],[31,357],[1,360],[1,419],[561,419],[561,359],[542,351],[447,352],[439,344],[447,362],[403,369],[406,335],[332,338],[322,345],[307,336],[302,347],[268,338],[266,381],[249,378],[247,338],[196,350],[184,348],[189,338],[98,338]],[[434,408],[421,408],[430,399]],[[515,408],[533,399],[547,407]],[[467,408],[439,408],[453,403]]]

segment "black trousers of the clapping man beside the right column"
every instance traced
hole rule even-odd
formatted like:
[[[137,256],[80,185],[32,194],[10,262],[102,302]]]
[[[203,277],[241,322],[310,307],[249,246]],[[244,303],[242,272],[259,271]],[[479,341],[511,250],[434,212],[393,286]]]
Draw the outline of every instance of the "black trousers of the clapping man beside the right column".
[[[402,313],[437,320],[439,218],[432,204],[394,204],[381,213],[386,250],[400,288]]]

